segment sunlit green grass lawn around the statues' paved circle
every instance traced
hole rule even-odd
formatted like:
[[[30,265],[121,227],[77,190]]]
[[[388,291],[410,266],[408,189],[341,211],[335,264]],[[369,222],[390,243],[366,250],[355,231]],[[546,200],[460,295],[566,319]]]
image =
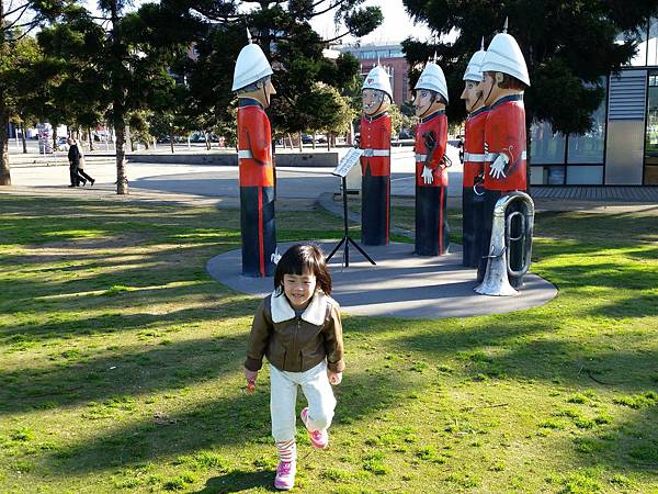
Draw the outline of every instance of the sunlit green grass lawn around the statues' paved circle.
[[[259,301],[205,271],[238,226],[0,195],[0,492],[271,491],[266,372],[252,395],[241,373]],[[281,240],[341,226],[277,213]],[[658,217],[541,214],[533,258],[542,307],[345,315],[331,448],[298,435],[297,492],[658,492]]]

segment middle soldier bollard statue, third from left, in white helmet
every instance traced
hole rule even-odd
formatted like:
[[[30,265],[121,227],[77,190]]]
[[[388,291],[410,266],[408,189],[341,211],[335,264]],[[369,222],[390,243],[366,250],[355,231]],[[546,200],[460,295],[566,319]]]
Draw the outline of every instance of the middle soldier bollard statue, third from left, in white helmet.
[[[419,256],[447,251],[447,86],[443,70],[429,61],[416,83],[416,250]]]

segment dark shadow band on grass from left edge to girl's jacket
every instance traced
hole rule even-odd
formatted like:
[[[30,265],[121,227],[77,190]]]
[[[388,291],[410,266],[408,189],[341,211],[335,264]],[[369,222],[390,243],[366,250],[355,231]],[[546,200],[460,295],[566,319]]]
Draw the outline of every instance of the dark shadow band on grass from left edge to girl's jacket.
[[[158,339],[154,339],[146,350],[122,349],[120,353],[95,350],[94,357],[86,358],[69,349],[57,367],[3,369],[0,415],[38,409],[53,403],[58,407],[76,406],[200,384],[239,370],[245,341],[243,334],[167,345],[158,345]],[[67,361],[68,355],[78,361]]]

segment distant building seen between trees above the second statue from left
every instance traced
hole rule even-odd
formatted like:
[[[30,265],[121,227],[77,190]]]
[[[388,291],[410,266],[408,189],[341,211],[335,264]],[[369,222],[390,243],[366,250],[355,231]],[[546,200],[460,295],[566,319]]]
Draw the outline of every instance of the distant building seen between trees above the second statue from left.
[[[363,77],[367,76],[367,72],[379,60],[379,64],[388,71],[390,77],[395,104],[401,106],[402,103],[412,99],[411,88],[409,88],[409,64],[405,58],[401,45],[337,45],[332,48],[340,53],[352,54],[361,63],[361,75]]]

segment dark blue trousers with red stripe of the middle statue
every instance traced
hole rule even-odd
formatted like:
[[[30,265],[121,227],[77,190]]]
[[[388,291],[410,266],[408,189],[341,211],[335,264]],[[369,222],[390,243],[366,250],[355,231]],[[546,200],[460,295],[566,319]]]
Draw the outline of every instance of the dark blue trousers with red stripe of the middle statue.
[[[415,252],[419,256],[441,256],[447,251],[450,227],[446,205],[445,188],[416,186]]]

